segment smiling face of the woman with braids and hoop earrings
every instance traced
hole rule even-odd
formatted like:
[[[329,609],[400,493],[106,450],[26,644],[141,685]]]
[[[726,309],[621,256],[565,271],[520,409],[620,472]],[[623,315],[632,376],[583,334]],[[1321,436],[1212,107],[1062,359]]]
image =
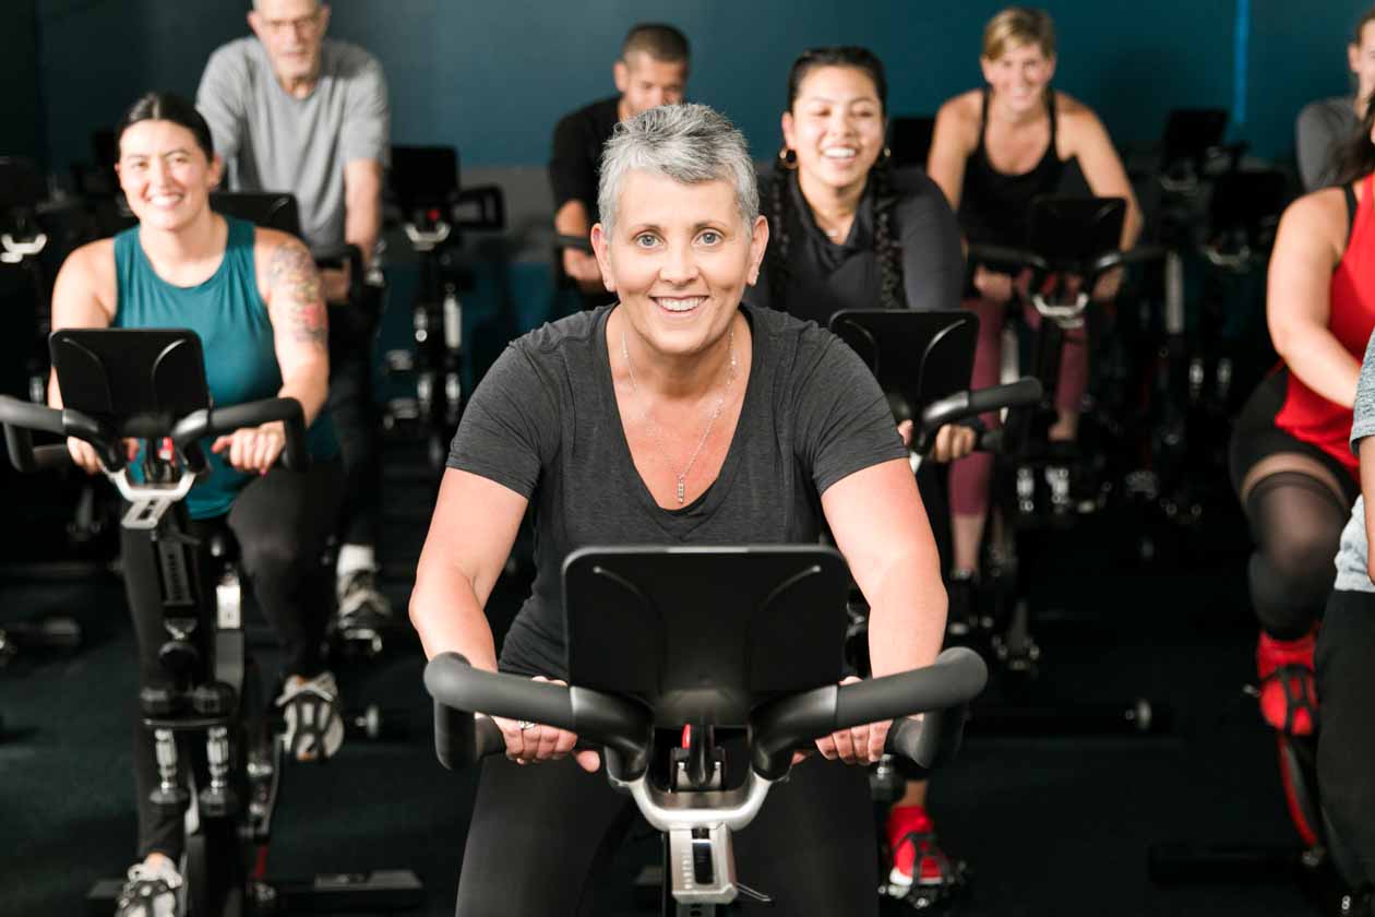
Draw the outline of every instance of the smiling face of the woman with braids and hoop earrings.
[[[782,115],[784,144],[808,183],[848,188],[864,183],[883,153],[879,91],[858,67],[815,67]]]

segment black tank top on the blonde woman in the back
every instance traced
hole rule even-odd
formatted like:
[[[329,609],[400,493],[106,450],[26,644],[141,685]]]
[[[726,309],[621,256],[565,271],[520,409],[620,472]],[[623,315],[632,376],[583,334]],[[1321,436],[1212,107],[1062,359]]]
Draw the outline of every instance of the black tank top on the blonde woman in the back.
[[[1027,243],[1027,212],[1031,201],[1055,194],[1064,176],[1066,161],[1055,151],[1055,91],[1045,91],[1046,114],[1050,117],[1050,143],[1030,172],[1008,175],[989,161],[984,136],[989,131],[989,89],[983,89],[979,114],[979,146],[964,164],[964,188],[960,191],[960,230],[971,242],[1022,246]]]

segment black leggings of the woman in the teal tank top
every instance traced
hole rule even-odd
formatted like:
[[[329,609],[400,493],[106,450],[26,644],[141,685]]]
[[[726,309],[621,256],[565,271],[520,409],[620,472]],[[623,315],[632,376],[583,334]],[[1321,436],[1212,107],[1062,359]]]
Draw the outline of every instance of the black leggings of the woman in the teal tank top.
[[[323,671],[322,645],[333,604],[331,576],[320,564],[324,543],[338,514],[338,462],[316,462],[308,472],[272,469],[249,483],[234,500],[228,516],[194,521],[190,533],[206,538],[227,525],[239,543],[239,568],[245,586],[253,588],[264,617],[276,632],[283,675],[311,678]],[[147,566],[147,542],[121,529],[125,588],[139,642],[139,683],[162,686],[168,675],[158,661],[166,639],[157,572]],[[206,583],[201,609],[208,632],[214,615],[214,584]],[[204,742],[179,742],[180,758],[204,758]],[[199,745],[192,748],[192,745]],[[153,737],[135,722],[133,774],[139,806],[139,859],[153,851],[176,859],[182,854],[182,815],[168,814],[148,800],[158,785]]]

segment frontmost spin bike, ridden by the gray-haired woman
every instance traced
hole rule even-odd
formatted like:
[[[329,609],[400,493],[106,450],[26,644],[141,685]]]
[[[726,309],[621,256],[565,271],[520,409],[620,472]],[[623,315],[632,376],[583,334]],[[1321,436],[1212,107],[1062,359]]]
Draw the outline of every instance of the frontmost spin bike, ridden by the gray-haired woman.
[[[764,903],[766,891],[736,876],[732,835],[786,778],[792,752],[899,718],[890,748],[935,767],[954,755],[964,705],[987,676],[978,654],[953,649],[925,668],[839,685],[848,587],[843,558],[820,546],[573,551],[564,564],[571,687],[436,656],[425,687],[439,759],[458,769],[505,751],[496,725],[472,711],[576,731],[663,832],[664,914]],[[741,731],[742,749],[723,741]],[[737,753],[748,767],[727,785]]]

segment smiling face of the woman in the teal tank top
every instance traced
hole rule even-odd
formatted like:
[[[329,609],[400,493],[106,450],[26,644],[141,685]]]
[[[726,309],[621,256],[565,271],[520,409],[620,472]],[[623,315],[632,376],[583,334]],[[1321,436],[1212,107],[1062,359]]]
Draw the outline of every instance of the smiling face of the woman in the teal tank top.
[[[147,227],[176,231],[209,206],[220,158],[208,158],[195,135],[172,121],[139,121],[120,136],[120,187]]]

